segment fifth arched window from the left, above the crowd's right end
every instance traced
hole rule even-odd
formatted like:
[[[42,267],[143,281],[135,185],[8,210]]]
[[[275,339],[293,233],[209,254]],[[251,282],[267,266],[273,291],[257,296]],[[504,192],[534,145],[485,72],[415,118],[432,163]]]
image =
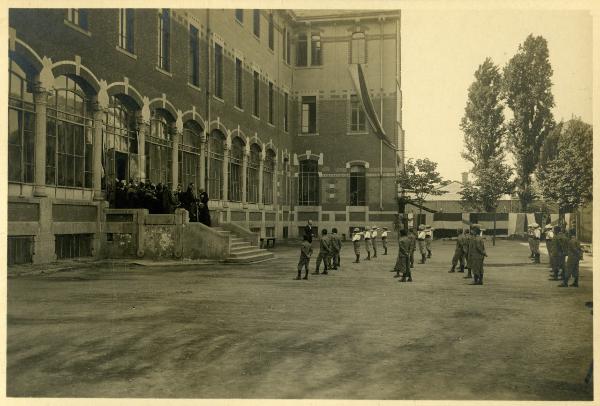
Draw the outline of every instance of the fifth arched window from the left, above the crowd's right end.
[[[202,127],[192,120],[183,125],[183,137],[179,143],[179,183],[183,185],[198,185],[202,131]]]

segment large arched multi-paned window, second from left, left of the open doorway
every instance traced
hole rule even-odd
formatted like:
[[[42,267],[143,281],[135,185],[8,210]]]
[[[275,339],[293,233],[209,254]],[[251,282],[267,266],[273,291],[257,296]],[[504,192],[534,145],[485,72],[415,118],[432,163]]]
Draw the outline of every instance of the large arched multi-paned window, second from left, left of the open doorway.
[[[47,115],[46,184],[91,188],[94,122],[89,99],[73,78],[55,79]]]

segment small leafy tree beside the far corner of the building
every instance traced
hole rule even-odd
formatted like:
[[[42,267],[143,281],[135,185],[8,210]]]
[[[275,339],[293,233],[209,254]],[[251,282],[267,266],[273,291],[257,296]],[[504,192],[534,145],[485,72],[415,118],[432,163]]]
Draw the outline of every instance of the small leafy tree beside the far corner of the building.
[[[398,198],[399,211],[402,213],[406,204],[413,204],[419,208],[419,215],[423,204],[429,196],[440,196],[448,193],[442,190],[450,181],[444,180],[437,171],[437,163],[424,159],[409,159],[404,164],[404,170],[398,177],[398,184],[404,192],[409,192],[410,197],[402,195]]]

